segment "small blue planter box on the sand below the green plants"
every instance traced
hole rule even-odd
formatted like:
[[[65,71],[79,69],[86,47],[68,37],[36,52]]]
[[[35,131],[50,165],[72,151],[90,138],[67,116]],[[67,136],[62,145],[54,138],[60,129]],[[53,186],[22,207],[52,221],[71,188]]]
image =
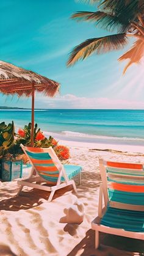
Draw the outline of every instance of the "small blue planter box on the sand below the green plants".
[[[22,177],[23,162],[2,159],[2,181],[12,181]]]

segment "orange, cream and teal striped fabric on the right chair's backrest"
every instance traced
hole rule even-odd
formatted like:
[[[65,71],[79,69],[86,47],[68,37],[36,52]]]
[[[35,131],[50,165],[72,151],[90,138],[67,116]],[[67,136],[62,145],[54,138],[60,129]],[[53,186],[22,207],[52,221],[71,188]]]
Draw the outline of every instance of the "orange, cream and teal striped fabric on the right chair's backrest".
[[[137,205],[138,208],[139,205],[144,205],[142,164],[107,162],[106,172],[110,201]]]

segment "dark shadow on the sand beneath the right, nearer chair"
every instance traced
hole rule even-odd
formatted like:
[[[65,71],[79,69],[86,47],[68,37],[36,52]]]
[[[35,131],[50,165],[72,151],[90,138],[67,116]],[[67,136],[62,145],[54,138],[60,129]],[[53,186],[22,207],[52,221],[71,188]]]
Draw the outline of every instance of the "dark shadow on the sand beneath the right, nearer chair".
[[[95,249],[95,231],[87,231],[85,238],[67,256],[134,256],[144,255],[142,240],[100,233],[100,246]]]

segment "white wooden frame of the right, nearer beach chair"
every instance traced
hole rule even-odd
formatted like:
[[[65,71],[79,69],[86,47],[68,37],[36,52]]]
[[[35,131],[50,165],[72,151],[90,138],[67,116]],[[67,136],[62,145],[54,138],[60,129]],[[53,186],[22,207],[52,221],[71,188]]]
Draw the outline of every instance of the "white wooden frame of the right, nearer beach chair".
[[[102,183],[99,188],[99,203],[98,203],[98,216],[92,221],[92,229],[95,230],[95,248],[99,247],[99,232],[109,233],[112,235],[118,236],[125,236],[128,238],[135,238],[144,240],[144,233],[143,232],[131,232],[126,231],[124,229],[115,229],[112,227],[107,227],[105,225],[101,225],[101,218],[103,217],[104,213],[106,213],[107,205],[115,207],[114,205],[110,204],[109,197],[107,194],[107,177],[106,177],[106,168],[104,166],[105,161],[103,159],[99,159],[99,169],[101,172]],[[103,207],[103,197],[104,197],[104,207]],[[121,207],[123,208],[123,207]],[[132,209],[129,209],[132,210]],[[134,210],[136,210],[134,208]]]

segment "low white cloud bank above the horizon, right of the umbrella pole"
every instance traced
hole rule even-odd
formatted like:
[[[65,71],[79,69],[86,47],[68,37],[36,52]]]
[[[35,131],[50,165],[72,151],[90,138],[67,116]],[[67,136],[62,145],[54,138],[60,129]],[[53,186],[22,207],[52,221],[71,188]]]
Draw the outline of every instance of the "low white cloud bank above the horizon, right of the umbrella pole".
[[[56,98],[35,97],[36,108],[56,109],[144,109],[142,101],[128,101],[110,98],[85,98],[73,94],[57,96]]]

